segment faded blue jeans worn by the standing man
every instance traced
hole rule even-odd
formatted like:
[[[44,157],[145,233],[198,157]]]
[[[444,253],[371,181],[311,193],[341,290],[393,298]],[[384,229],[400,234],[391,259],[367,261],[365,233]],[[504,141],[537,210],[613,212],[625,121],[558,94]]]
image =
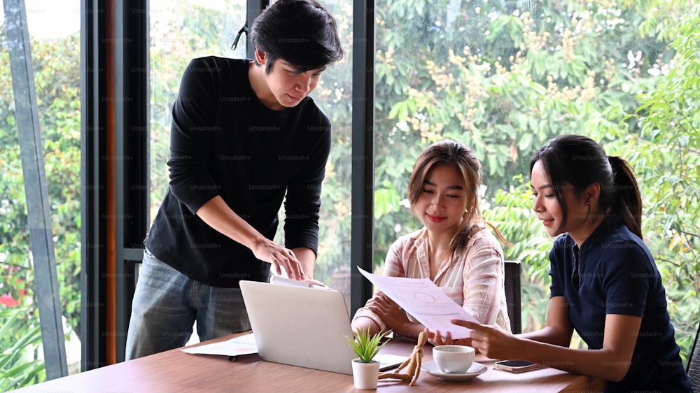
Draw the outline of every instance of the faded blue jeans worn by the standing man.
[[[127,334],[126,359],[251,329],[238,288],[204,285],[144,250]]]

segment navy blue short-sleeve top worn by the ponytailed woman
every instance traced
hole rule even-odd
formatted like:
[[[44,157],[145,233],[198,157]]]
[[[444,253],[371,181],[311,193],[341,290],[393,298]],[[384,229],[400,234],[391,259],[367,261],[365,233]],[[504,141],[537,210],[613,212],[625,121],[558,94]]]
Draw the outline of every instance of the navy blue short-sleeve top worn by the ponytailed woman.
[[[568,234],[557,238],[549,261],[550,296],[566,298],[570,321],[589,349],[603,348],[606,315],[642,318],[629,371],[606,391],[691,391],[666,310],[666,290],[638,236],[605,220],[580,250]]]

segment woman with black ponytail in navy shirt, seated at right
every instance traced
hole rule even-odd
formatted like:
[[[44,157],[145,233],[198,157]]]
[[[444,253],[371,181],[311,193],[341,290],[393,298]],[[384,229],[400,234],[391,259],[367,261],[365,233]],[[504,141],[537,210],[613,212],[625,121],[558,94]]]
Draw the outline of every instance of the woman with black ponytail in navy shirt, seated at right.
[[[608,380],[606,392],[691,392],[666,310],[666,292],[642,241],[642,203],[629,164],[583,136],[559,136],[531,159],[533,209],[549,236],[547,322],[508,331],[461,320],[472,346]],[[569,348],[573,331],[588,350]],[[430,334],[432,336],[433,334]],[[449,336],[436,344],[451,343]]]

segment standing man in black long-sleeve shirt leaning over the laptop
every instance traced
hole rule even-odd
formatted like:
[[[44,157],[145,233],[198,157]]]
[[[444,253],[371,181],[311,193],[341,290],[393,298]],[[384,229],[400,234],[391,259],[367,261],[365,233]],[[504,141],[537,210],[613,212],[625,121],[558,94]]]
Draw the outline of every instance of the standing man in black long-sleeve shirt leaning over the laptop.
[[[250,329],[239,280],[313,280],[330,120],[308,97],[344,52],[316,0],[253,22],[255,60],[202,57],[172,115],[170,184],[144,242],[127,359]],[[272,241],[284,202],[285,245]]]

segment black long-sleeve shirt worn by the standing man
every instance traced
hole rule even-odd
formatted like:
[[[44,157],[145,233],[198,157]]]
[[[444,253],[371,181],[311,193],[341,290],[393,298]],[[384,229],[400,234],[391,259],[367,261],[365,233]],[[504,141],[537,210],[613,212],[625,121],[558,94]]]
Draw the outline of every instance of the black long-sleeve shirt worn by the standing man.
[[[284,201],[286,248],[318,248],[330,120],[310,97],[294,108],[264,106],[248,79],[250,62],[202,57],[188,65],[172,110],[170,183],[144,242],[158,259],[216,287],[265,281],[270,268],[195,215],[218,195],[269,239]]]

